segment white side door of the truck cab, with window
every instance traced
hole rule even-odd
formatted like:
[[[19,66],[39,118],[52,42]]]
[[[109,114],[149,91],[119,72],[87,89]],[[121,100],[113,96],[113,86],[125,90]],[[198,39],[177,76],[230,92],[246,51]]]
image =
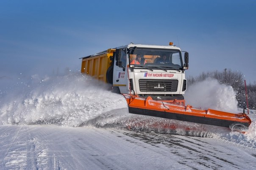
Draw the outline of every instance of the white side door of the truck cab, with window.
[[[128,57],[125,49],[117,49],[114,59],[113,86],[117,86],[121,93],[126,93]]]

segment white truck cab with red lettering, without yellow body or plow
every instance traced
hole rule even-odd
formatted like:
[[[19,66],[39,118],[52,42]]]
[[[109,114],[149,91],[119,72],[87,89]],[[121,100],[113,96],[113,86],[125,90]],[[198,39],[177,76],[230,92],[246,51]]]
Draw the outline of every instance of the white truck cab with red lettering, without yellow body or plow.
[[[185,51],[184,51],[185,52]],[[184,71],[188,69],[188,53],[170,43],[169,46],[130,43],[116,48],[113,86],[121,94],[151,96],[154,100],[184,100]]]

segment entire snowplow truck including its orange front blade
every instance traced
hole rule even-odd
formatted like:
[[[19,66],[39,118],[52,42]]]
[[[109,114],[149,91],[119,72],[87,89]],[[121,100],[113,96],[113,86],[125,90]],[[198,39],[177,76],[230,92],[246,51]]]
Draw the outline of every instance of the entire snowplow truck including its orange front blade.
[[[229,128],[248,129],[251,123],[245,113],[185,105],[189,53],[172,42],[167,46],[130,43],[80,59],[81,73],[112,84],[125,97],[130,113]]]

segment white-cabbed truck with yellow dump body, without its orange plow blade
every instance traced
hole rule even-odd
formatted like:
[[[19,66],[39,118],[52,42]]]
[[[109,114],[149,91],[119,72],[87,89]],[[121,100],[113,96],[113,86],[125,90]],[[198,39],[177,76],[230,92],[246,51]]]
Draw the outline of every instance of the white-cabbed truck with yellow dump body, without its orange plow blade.
[[[150,96],[153,100],[185,105],[187,52],[185,56],[183,64],[181,49],[172,43],[169,46],[130,43],[83,57],[81,73],[113,84],[114,90],[121,94]]]

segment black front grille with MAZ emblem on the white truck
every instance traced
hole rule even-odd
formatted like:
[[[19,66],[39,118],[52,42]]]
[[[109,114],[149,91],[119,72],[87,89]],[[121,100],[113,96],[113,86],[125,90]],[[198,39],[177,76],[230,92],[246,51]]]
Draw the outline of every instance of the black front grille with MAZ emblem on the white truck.
[[[141,92],[177,92],[178,80],[139,79]]]

